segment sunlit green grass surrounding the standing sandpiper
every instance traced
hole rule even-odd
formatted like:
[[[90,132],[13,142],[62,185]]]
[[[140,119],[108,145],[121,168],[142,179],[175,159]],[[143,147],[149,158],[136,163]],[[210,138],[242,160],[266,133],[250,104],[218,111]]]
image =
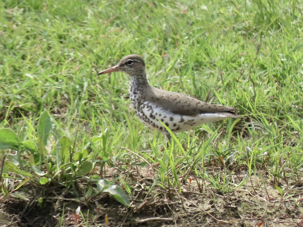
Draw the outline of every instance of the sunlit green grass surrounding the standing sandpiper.
[[[302,7],[295,0],[2,1],[0,128],[18,141],[0,146],[17,156],[5,161],[16,167],[4,165],[2,196],[50,184],[89,197],[106,190],[95,188],[101,179],[93,175],[117,168],[124,174],[111,180],[133,201],[131,169],[139,173],[146,162],[160,166],[142,187],[168,190],[171,199],[191,177],[198,191],[208,182],[224,194],[255,175],[283,196],[302,183]],[[128,76],[96,75],[128,54],[145,59],[155,87],[234,106],[248,118],[178,133],[161,153],[164,136],[132,111]]]

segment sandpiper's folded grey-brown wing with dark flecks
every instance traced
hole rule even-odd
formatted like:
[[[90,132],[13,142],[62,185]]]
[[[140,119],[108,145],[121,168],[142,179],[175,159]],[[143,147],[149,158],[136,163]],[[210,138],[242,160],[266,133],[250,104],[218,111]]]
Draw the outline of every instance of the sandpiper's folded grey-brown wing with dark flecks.
[[[200,113],[226,113],[228,117],[245,118],[234,113],[233,107],[208,104],[198,99],[177,92],[160,90],[150,86],[146,90],[146,100],[151,101],[165,110],[175,114],[195,116]]]

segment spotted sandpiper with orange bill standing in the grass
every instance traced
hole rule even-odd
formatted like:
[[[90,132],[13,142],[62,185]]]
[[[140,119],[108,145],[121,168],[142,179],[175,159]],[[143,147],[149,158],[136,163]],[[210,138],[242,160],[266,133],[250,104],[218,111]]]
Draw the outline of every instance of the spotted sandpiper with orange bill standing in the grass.
[[[233,107],[208,104],[177,92],[161,90],[148,84],[144,60],[136,54],[125,56],[118,65],[99,72],[125,72],[130,76],[129,95],[136,115],[147,127],[164,133],[183,132],[195,126],[226,118],[245,118],[235,113]],[[160,122],[160,121],[161,122]]]

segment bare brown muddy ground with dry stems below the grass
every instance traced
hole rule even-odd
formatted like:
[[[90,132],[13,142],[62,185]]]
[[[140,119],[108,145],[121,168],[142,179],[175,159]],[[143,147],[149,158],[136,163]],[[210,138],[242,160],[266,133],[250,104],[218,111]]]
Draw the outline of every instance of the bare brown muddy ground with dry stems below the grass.
[[[141,186],[133,191],[126,207],[108,193],[78,199],[64,188],[41,188],[25,185],[20,194],[0,198],[0,226],[303,226],[302,185],[288,186],[281,196],[268,177],[252,176],[246,183],[227,193],[216,192],[207,181],[200,193],[195,180],[182,183],[182,192],[156,186],[148,193],[155,173],[141,169],[132,173]],[[112,171],[112,172],[110,172]],[[118,175],[108,169],[109,176]],[[235,177],[239,181],[245,174]],[[134,180],[133,179],[133,180]],[[82,185],[84,186],[84,185]],[[280,185],[283,187],[283,185]],[[81,187],[80,187],[81,188]],[[22,199],[22,196],[28,200]],[[43,198],[43,202],[41,199]],[[82,197],[83,198],[83,197]],[[97,205],[99,209],[97,209]],[[84,219],[75,220],[81,207]]]

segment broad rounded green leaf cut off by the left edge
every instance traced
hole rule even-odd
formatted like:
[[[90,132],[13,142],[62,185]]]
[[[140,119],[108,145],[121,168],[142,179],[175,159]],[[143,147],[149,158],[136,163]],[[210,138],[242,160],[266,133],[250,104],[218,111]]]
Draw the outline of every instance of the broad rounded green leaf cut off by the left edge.
[[[18,150],[19,138],[17,134],[9,128],[0,129],[0,150],[13,149]]]

